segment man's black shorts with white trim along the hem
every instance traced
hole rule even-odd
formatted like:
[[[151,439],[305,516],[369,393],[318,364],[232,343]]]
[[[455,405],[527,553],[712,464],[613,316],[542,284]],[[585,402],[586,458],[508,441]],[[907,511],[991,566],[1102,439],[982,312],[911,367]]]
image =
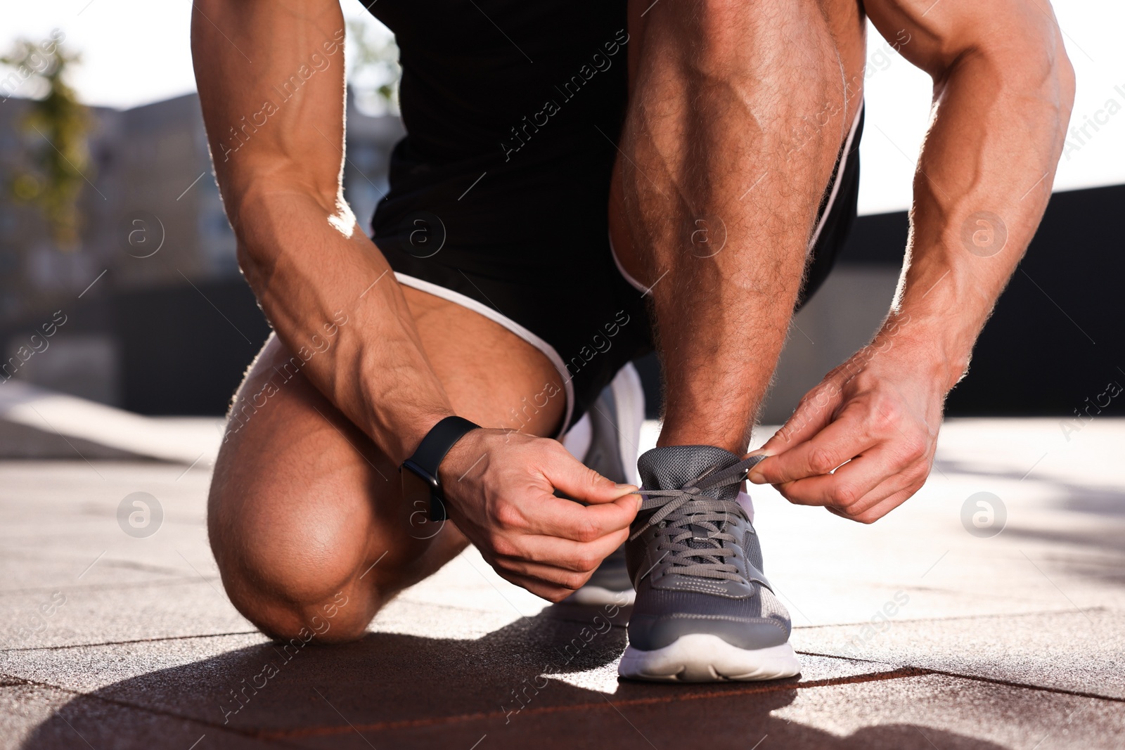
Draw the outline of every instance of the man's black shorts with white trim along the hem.
[[[824,283],[855,219],[862,130],[861,110],[821,205],[798,308]],[[416,255],[380,243],[398,281],[475,310],[546,354],[565,387],[566,417],[559,434],[585,414],[622,367],[652,351],[648,290],[624,274],[608,235],[544,259],[547,264],[539,268],[489,268],[487,254],[475,259],[474,268],[458,268],[443,262],[441,252],[417,256],[443,240],[441,227],[429,224],[432,218],[417,218],[413,226],[420,234],[412,246],[422,250],[415,250]],[[567,282],[558,283],[560,278]]]

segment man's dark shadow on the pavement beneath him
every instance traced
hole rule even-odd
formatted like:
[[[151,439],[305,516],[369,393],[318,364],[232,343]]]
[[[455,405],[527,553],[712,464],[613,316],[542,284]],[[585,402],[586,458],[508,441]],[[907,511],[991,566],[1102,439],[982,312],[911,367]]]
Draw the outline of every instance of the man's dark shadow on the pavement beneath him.
[[[339,647],[230,651],[65,701],[22,747],[748,749],[766,735],[770,748],[1000,747],[909,724],[838,737],[772,715],[802,690],[832,702],[843,685],[618,684],[624,629],[597,614],[549,607],[476,640],[370,633]],[[138,665],[159,662],[155,645],[138,644]],[[886,701],[908,705],[909,690],[894,687],[904,681],[880,683]]]

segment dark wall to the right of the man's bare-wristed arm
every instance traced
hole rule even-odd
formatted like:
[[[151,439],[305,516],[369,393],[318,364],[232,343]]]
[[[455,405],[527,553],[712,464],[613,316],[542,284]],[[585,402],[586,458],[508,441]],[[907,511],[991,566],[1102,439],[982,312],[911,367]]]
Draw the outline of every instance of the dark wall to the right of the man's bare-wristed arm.
[[[948,414],[1073,416],[1125,386],[1123,209],[1125,186],[1052,197]],[[1102,413],[1125,414],[1125,392]]]

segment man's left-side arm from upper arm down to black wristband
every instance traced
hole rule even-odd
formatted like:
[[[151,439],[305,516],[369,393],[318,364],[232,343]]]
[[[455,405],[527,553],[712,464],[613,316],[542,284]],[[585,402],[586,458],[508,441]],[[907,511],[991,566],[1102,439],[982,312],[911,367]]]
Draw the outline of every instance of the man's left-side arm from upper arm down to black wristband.
[[[240,263],[291,369],[400,461],[452,412],[342,198],[342,40],[336,0],[195,4],[199,98]]]

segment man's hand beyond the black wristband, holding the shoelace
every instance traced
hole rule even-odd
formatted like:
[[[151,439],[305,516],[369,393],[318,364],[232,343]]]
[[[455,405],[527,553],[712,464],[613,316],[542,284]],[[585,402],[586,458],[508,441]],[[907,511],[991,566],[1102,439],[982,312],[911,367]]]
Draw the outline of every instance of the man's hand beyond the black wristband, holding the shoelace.
[[[640,508],[636,487],[584,467],[558,441],[504,430],[468,433],[439,473],[450,517],[485,560],[551,602],[590,579]]]

